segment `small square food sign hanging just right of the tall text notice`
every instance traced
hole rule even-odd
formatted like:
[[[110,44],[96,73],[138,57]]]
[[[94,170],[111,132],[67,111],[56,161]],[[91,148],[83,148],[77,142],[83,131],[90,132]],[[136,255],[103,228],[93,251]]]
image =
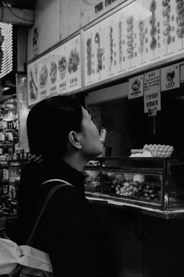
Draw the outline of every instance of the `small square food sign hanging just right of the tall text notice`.
[[[180,87],[179,63],[161,68],[161,91]]]

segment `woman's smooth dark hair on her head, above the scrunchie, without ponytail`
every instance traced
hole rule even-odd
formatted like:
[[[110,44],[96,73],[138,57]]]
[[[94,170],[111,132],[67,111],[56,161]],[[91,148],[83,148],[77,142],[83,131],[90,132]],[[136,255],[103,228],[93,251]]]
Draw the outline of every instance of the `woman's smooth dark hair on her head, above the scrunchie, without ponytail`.
[[[44,161],[61,160],[70,131],[81,132],[82,106],[75,96],[54,95],[38,102],[28,114],[30,153]]]

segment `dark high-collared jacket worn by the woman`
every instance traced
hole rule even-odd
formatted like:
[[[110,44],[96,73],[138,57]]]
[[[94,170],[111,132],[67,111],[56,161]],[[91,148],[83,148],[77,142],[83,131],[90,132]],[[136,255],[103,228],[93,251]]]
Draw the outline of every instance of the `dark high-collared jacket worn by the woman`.
[[[62,163],[61,168],[42,166],[42,183],[58,178],[71,183],[58,189],[49,200],[38,225],[32,247],[49,253],[55,277],[115,277],[113,257],[105,227],[94,213],[84,193],[84,174]],[[35,191],[34,209],[23,220],[20,231],[25,244],[38,211],[50,189],[46,183]],[[19,218],[21,221],[21,218]]]

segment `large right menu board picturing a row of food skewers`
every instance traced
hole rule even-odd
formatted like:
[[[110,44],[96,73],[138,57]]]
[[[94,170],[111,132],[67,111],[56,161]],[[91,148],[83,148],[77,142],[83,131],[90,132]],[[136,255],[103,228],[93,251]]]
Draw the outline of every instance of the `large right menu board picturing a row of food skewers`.
[[[135,0],[84,31],[84,86],[184,52],[183,0]]]

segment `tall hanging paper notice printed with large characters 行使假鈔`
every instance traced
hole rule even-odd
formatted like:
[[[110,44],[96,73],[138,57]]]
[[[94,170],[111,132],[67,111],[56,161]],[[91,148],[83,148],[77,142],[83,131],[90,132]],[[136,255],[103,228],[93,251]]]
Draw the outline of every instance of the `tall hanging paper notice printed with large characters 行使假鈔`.
[[[144,112],[148,109],[161,110],[161,77],[160,69],[153,70],[144,74]],[[154,108],[154,109],[153,109]]]

